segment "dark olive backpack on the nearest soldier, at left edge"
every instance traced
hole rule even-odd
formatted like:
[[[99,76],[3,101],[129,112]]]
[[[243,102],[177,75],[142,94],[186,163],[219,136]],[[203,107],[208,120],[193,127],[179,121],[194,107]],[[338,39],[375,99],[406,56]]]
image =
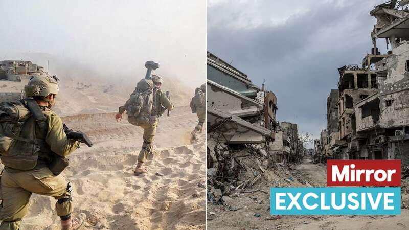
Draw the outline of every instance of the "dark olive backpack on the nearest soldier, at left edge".
[[[44,139],[36,138],[36,125],[47,131],[47,119],[33,99],[0,103],[0,159],[10,168],[30,170],[39,152],[51,152]]]

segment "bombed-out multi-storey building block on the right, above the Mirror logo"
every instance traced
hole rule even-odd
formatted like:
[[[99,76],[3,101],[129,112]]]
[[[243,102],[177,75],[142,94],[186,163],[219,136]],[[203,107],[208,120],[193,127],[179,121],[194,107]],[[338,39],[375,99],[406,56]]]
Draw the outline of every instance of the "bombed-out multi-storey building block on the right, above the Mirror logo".
[[[338,129],[327,103],[328,149],[335,159],[401,159],[409,165],[409,11],[407,1],[389,1],[370,12],[376,18],[373,48],[359,66],[338,69]],[[387,54],[377,48],[383,38]],[[331,95],[333,90],[331,90]],[[332,96],[329,101],[333,101]]]

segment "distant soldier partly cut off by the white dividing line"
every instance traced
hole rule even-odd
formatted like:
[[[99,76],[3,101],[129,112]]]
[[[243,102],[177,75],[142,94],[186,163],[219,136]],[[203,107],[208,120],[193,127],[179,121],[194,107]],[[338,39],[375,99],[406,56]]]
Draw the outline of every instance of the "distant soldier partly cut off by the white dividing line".
[[[197,139],[196,133],[198,131],[202,132],[206,119],[206,84],[202,84],[200,89],[196,89],[195,96],[190,102],[190,108],[192,109],[192,113],[196,112],[199,118],[199,123],[197,123],[195,129],[190,133],[191,141],[194,142]]]

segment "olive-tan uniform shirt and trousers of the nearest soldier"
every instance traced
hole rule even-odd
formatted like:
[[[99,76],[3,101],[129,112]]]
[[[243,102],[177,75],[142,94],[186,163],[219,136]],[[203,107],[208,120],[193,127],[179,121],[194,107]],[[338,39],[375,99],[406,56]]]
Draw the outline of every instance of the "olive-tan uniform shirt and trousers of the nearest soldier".
[[[21,219],[28,212],[28,202],[32,193],[52,196],[57,199],[57,215],[69,218],[73,210],[71,190],[64,177],[55,176],[48,168],[52,154],[67,156],[80,145],[78,141],[67,139],[60,117],[47,107],[40,107],[47,118],[47,131],[35,127],[36,138],[43,140],[37,165],[32,170],[18,170],[5,167],[1,177],[0,229],[19,229]],[[63,219],[61,218],[61,219]]]

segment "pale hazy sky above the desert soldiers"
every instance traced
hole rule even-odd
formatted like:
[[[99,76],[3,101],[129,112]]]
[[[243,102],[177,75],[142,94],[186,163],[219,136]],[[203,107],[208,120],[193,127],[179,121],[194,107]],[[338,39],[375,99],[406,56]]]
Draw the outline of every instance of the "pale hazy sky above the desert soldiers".
[[[10,0],[0,1],[0,15],[1,60],[46,53],[143,76],[145,61],[154,60],[165,83],[167,75],[205,82],[205,1]]]

